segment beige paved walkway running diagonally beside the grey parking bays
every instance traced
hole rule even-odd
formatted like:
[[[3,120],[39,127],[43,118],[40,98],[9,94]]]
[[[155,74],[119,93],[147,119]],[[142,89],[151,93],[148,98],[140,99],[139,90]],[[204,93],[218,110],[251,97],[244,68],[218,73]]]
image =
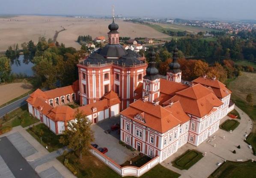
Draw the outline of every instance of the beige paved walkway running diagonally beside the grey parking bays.
[[[38,125],[38,124],[40,124],[40,122],[37,122],[34,125]],[[29,127],[32,127],[32,125]],[[29,127],[27,127],[27,128],[29,128]],[[63,153],[64,148],[61,148],[58,151],[53,151],[53,152],[49,153],[45,147],[43,147],[36,139],[34,139],[33,136],[31,136],[26,131],[27,128],[22,128],[21,126],[12,128],[12,131],[10,131],[6,134],[0,135],[0,139],[2,139],[4,136],[7,136],[7,137],[11,137],[12,141],[15,141],[14,138],[16,138],[16,139],[18,139],[18,137],[21,138],[19,135],[21,135],[24,139],[26,139],[28,144],[30,144],[33,148],[35,148],[37,152],[35,154],[31,154],[30,156],[25,157],[25,159],[29,163],[28,165],[30,165],[31,169],[33,168],[34,170],[36,170],[36,172],[39,173],[40,177],[43,176],[41,178],[52,178],[51,175],[53,174],[53,170],[49,169],[51,167],[54,167],[54,169],[63,178],[76,178],[62,163],[60,163],[57,159],[55,159],[57,156],[59,156]],[[16,136],[18,136],[18,137],[16,137]],[[18,139],[18,142],[19,142],[19,139]],[[21,149],[24,145],[17,144],[15,146],[17,148]],[[41,174],[41,172],[44,172],[44,173]],[[58,173],[56,173],[56,174],[54,173],[54,175],[56,175],[57,178],[59,178]],[[2,177],[0,177],[0,178],[2,178]],[[10,178],[12,178],[12,177],[10,177]]]

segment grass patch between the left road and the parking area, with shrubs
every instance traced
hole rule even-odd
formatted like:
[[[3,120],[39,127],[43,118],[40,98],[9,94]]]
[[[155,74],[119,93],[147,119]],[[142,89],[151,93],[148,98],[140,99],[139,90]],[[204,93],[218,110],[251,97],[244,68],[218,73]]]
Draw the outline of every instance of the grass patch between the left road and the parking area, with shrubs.
[[[0,124],[2,124],[3,127],[16,127],[21,125],[23,128],[25,128],[36,122],[39,122],[39,120],[33,116],[30,116],[27,110],[27,104],[24,104],[18,109],[5,115],[3,119],[0,119]]]

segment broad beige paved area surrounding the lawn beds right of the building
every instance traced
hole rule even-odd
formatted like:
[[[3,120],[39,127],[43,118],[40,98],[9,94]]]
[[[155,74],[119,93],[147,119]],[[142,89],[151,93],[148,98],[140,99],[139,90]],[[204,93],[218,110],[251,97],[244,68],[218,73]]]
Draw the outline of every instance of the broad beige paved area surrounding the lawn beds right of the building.
[[[247,143],[244,142],[245,135],[249,134],[252,130],[252,121],[249,116],[238,107],[235,107],[235,110],[238,111],[241,119],[237,119],[238,122],[240,122],[240,125],[232,133],[219,129],[213,134],[216,135],[214,141],[209,143],[205,141],[198,147],[188,143],[179,148],[175,154],[161,164],[168,169],[181,174],[180,178],[207,178],[215,169],[217,169],[217,164],[223,163],[224,160],[256,160],[256,156],[253,155],[252,149],[250,149]],[[221,119],[220,123],[223,123],[226,119],[229,119],[229,117],[225,116]],[[225,139],[223,139],[223,136],[225,136]],[[214,144],[216,144],[216,147],[214,147]],[[238,145],[241,146],[241,149],[236,147]],[[171,162],[188,149],[196,149],[202,153],[206,152],[207,154],[188,170],[180,170],[171,166]],[[232,153],[233,150],[236,150],[236,154]]]

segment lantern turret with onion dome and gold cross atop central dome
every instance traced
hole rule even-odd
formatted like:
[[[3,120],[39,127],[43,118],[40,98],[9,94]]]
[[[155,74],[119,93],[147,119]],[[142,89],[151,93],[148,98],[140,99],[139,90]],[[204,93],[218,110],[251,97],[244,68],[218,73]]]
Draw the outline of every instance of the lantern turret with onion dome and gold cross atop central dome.
[[[118,24],[115,23],[114,6],[113,6],[112,11],[113,11],[113,22],[112,22],[112,24],[108,25],[108,29],[110,31],[107,33],[107,37],[108,37],[108,44],[116,45],[116,44],[119,44],[119,32],[117,31],[119,26],[118,26]]]

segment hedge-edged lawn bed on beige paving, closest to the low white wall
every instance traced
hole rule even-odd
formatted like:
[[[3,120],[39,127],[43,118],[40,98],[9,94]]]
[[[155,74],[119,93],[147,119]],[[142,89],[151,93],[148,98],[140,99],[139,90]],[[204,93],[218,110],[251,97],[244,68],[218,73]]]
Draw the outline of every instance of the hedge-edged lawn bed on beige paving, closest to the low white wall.
[[[173,162],[173,166],[178,169],[189,169],[197,161],[203,157],[202,153],[196,150],[187,150],[184,154],[177,157]]]

